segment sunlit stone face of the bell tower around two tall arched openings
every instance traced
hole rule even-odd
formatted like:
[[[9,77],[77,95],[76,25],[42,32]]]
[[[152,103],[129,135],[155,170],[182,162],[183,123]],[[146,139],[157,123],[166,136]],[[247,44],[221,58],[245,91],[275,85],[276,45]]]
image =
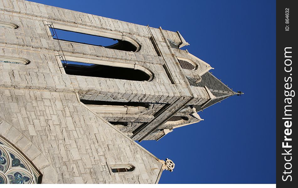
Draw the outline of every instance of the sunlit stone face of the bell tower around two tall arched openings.
[[[174,49],[177,57],[190,59],[198,65],[194,71],[179,70],[179,65],[166,44],[168,39],[177,44],[181,42],[176,32],[160,31],[156,28],[22,0],[0,0],[0,21],[12,22],[19,26],[17,29],[0,28],[0,56],[15,56],[31,61],[28,65],[1,63],[0,87],[75,92],[84,100],[170,104],[168,109],[155,119],[143,115],[117,115],[115,118],[109,116],[109,120],[112,121],[147,122],[148,125],[134,135],[133,139],[142,138],[192,97],[196,98],[193,102],[196,105],[208,100],[204,88],[188,87],[185,75],[195,77],[210,65],[193,58],[184,50]],[[127,52],[68,41],[60,41],[60,47],[58,41],[49,36],[49,26],[45,25],[46,23],[53,23],[54,27],[56,24],[95,32],[120,33],[135,40],[141,48],[138,52]],[[152,38],[156,40],[157,48],[162,55],[157,54]],[[66,57],[143,67],[152,72],[153,79],[141,82],[67,75],[58,58],[63,55],[61,49]],[[165,65],[170,75],[164,68]],[[191,118],[190,121],[192,120]]]

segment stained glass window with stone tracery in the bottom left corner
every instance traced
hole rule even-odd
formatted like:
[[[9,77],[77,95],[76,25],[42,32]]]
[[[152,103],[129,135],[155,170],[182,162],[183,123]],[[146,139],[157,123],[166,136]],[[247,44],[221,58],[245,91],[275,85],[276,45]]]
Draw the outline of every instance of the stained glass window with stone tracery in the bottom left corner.
[[[0,137],[0,184],[37,184],[40,173]]]

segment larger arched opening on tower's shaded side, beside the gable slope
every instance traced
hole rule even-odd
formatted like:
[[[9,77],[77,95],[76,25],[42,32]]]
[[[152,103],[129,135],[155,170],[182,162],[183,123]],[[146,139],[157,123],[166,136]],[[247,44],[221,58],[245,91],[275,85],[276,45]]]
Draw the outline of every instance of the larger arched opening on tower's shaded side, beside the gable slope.
[[[145,112],[149,107],[148,103],[141,102],[110,102],[92,100],[81,100],[81,102],[98,114],[140,114]]]

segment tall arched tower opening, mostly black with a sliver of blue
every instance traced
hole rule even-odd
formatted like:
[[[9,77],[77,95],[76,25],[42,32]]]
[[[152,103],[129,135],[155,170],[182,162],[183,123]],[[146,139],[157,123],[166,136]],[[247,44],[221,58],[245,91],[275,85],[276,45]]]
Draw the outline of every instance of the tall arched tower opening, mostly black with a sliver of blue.
[[[95,65],[74,61],[67,61],[67,64],[63,64],[63,66],[65,73],[69,75],[92,76],[133,81],[150,81],[151,79],[151,76],[149,76],[142,70],[132,68]]]

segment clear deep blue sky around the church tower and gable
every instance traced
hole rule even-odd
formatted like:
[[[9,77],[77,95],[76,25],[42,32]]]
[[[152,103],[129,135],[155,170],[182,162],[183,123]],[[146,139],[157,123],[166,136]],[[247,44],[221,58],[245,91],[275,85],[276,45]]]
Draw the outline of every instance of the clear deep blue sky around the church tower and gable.
[[[245,93],[200,112],[205,121],[177,128],[158,142],[140,143],[176,164],[160,183],[276,182],[275,1],[34,2],[178,30],[190,53],[214,67],[213,74],[234,91]]]

